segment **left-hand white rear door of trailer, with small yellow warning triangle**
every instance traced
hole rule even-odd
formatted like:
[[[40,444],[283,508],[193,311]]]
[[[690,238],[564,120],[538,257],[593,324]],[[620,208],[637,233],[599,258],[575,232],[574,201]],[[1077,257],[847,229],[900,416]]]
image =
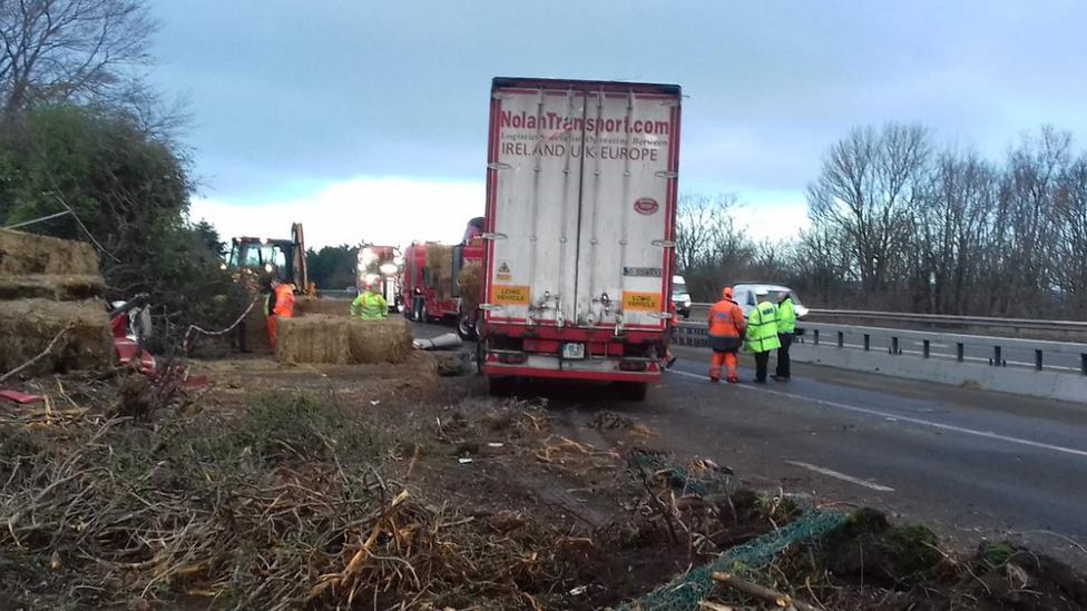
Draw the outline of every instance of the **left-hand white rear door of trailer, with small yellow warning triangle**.
[[[575,319],[585,93],[496,89],[488,164],[487,318]],[[570,129],[564,129],[569,127]]]

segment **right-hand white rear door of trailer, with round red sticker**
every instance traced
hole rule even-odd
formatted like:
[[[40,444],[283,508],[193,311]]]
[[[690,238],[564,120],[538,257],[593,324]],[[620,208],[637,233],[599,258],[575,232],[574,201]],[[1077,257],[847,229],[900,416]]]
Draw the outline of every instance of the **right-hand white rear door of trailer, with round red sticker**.
[[[676,96],[587,96],[579,325],[664,328],[672,285],[677,111]]]

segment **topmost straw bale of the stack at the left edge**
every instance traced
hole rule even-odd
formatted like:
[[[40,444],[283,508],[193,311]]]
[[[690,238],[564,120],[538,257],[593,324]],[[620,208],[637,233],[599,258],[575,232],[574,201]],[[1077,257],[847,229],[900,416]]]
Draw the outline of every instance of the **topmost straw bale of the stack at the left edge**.
[[[0,277],[97,276],[98,254],[82,242],[0,229]]]

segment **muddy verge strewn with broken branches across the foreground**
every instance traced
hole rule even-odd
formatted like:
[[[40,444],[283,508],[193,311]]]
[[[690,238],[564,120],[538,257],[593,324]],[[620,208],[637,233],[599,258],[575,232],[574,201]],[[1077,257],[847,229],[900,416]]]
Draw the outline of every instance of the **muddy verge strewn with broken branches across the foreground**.
[[[1087,609],[1045,555],[874,510],[723,563],[845,507],[678,463],[626,416],[488,398],[430,355],[189,365],[207,386],[39,377],[19,390],[47,402],[0,405],[0,610]]]

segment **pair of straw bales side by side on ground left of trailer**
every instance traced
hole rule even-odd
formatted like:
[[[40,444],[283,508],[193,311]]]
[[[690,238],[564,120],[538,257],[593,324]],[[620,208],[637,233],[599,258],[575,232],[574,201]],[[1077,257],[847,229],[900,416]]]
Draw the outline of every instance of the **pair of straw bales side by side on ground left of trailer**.
[[[405,319],[329,314],[280,321],[275,343],[275,357],[284,363],[403,363],[411,351],[411,324]]]

